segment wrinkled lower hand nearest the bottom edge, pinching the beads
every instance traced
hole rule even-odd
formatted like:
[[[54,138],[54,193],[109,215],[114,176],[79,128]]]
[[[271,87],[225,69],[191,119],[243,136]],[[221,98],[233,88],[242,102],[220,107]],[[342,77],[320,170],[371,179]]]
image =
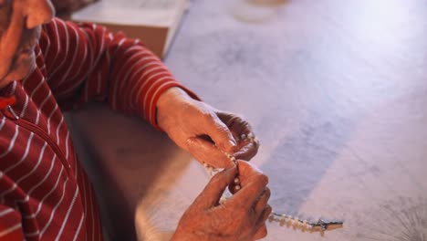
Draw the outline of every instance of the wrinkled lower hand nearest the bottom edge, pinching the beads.
[[[248,162],[216,173],[203,192],[182,215],[172,240],[255,240],[266,236],[268,178]],[[219,204],[225,187],[234,183],[239,173],[242,189]]]

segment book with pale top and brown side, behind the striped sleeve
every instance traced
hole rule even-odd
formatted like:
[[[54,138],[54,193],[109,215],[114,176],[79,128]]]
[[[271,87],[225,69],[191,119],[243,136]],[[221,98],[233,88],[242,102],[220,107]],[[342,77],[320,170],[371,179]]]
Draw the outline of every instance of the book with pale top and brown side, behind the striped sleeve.
[[[71,15],[74,22],[93,22],[111,32],[140,38],[159,58],[164,58],[180,26],[189,0],[102,0]]]

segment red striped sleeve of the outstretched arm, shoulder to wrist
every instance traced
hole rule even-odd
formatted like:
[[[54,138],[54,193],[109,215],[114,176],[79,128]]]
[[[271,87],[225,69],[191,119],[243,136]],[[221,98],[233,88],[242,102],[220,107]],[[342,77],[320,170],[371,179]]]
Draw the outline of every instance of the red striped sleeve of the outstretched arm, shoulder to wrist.
[[[200,100],[139,39],[104,26],[55,18],[43,26],[39,45],[61,110],[107,101],[112,110],[141,115],[158,128],[156,103],[165,90],[180,87]]]

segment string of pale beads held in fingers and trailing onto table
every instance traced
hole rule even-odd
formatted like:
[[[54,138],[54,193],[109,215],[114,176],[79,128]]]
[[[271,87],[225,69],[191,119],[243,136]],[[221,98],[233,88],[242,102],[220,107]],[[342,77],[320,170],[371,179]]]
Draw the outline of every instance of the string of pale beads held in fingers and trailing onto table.
[[[255,138],[254,134],[249,133],[247,136],[245,134],[242,134],[240,136],[240,140],[251,140],[254,141],[256,145],[259,145],[259,141]],[[237,161],[235,160],[234,156],[224,152],[224,154],[227,156],[228,159],[230,159],[230,162],[234,162],[234,165],[237,165]],[[208,173],[213,176],[215,173],[218,173],[218,169],[214,169],[212,166],[209,166],[207,163],[203,164]],[[241,189],[240,186],[240,180],[238,177],[234,178],[234,189],[235,191],[239,191]],[[223,204],[227,200],[227,196],[225,194],[222,195],[220,199],[220,204]],[[325,220],[325,219],[318,219],[317,222],[313,221],[307,221],[304,219],[300,219],[298,217],[292,216],[292,215],[286,215],[286,214],[277,214],[274,211],[271,213],[271,215],[268,217],[268,221],[276,222],[280,226],[286,225],[287,227],[293,226],[294,229],[301,229],[303,232],[314,232],[318,229],[320,229],[320,232],[323,234],[323,232],[327,231],[328,228],[332,229],[332,227],[339,228],[344,225],[344,221],[341,220]]]

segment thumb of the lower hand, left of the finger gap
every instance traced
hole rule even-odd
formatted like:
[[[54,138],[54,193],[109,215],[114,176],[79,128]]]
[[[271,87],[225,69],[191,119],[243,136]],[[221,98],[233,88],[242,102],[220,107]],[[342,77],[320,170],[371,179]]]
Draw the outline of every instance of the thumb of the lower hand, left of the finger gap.
[[[209,183],[204,187],[201,194],[197,196],[194,204],[199,204],[203,208],[211,208],[219,204],[219,200],[224,193],[225,187],[233,182],[237,168],[234,166],[224,169],[220,173],[213,175]]]

